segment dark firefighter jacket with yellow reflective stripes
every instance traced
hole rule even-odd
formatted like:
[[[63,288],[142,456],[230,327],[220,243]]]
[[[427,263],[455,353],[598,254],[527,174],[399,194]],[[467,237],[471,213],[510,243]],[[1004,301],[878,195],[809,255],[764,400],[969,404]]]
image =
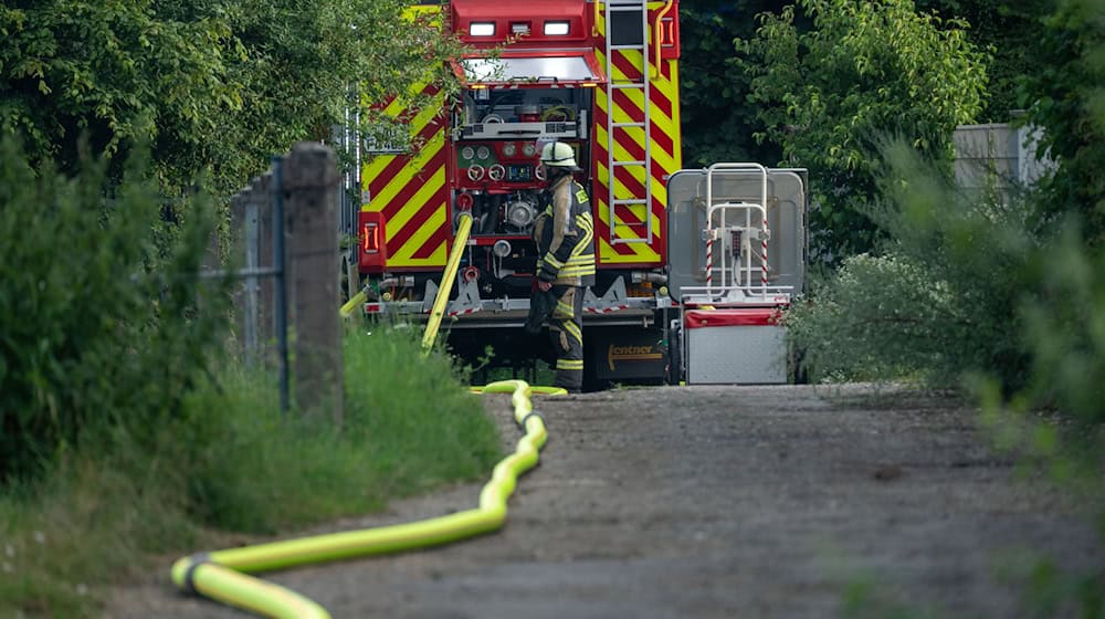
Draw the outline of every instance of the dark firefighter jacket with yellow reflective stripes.
[[[541,200],[545,211],[534,223],[537,279],[557,285],[594,285],[594,223],[583,186],[565,176]]]

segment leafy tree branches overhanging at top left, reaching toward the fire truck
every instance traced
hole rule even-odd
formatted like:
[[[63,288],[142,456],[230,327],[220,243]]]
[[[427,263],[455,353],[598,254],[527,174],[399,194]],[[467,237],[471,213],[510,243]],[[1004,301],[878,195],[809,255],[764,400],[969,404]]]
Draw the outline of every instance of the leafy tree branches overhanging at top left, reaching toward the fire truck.
[[[76,168],[77,140],[151,143],[164,183],[224,191],[299,139],[330,137],[360,96],[451,75],[456,44],[409,0],[14,0],[0,8],[0,128]],[[116,158],[115,172],[122,169]]]

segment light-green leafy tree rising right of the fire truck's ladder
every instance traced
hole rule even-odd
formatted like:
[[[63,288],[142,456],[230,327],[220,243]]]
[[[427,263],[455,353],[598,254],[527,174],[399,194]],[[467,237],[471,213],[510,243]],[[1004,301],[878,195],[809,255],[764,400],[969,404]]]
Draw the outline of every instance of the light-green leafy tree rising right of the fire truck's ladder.
[[[951,134],[972,120],[986,94],[986,55],[964,24],[915,11],[912,0],[801,0],[760,15],[757,35],[738,43],[750,101],[779,144],[782,165],[810,169],[818,208],[811,242],[822,258],[870,250],[877,227],[864,214],[876,192],[877,143],[903,136],[950,164]]]

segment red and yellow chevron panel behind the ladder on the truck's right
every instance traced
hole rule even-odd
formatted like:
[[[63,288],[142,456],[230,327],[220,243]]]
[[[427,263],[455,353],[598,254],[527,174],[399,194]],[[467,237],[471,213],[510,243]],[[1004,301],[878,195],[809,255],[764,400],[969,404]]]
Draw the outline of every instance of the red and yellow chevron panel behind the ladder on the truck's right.
[[[664,2],[650,2],[650,23],[654,22],[656,13]],[[599,33],[604,36],[606,23],[599,13]],[[651,31],[651,27],[650,27]],[[648,65],[641,52],[634,50],[614,50],[609,64],[606,59],[606,45],[600,42],[596,55],[603,66],[608,66],[612,83],[625,83],[641,80],[642,66],[648,66],[650,74],[655,59],[650,57]],[[651,54],[650,54],[651,55]],[[607,169],[607,143],[611,123],[641,123],[644,120],[643,93],[641,91],[615,90],[608,101],[603,88],[596,88],[597,112],[594,118],[594,237],[598,239],[599,265],[619,266],[656,266],[666,260],[667,244],[667,187],[666,177],[675,174],[683,166],[683,154],[680,141],[680,102],[678,102],[678,61],[661,61],[660,71],[650,75],[649,84],[649,135],[643,127],[618,127],[614,130],[615,161],[639,161],[644,159],[645,139],[651,140],[652,204],[619,204],[610,212],[608,197],[610,183],[613,182],[615,199],[643,198],[645,195],[644,169],[640,166],[615,167],[613,179]],[[648,211],[648,212],[645,212]],[[612,217],[611,217],[612,214]],[[645,237],[646,218],[652,219],[651,243],[617,243],[612,240],[641,239]]]

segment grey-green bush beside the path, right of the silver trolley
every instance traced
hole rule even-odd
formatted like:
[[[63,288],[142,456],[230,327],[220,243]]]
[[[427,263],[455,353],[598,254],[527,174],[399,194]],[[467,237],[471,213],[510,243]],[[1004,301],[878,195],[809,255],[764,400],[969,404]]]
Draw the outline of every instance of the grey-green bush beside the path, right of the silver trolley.
[[[906,144],[883,153],[884,198],[869,216],[891,240],[811,286],[788,317],[811,376],[958,386],[986,371],[1007,391],[1023,386],[1018,304],[1045,255],[1030,203],[964,195]]]

